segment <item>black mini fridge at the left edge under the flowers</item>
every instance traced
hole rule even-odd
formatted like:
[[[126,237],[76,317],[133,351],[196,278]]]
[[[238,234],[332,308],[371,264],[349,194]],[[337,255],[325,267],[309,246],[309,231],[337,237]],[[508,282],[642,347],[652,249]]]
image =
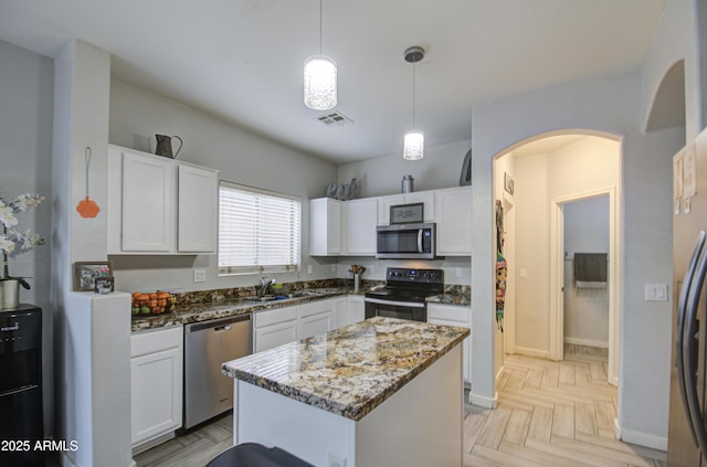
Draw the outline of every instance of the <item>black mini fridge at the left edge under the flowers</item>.
[[[42,309],[33,305],[0,309],[0,466],[43,466]]]

